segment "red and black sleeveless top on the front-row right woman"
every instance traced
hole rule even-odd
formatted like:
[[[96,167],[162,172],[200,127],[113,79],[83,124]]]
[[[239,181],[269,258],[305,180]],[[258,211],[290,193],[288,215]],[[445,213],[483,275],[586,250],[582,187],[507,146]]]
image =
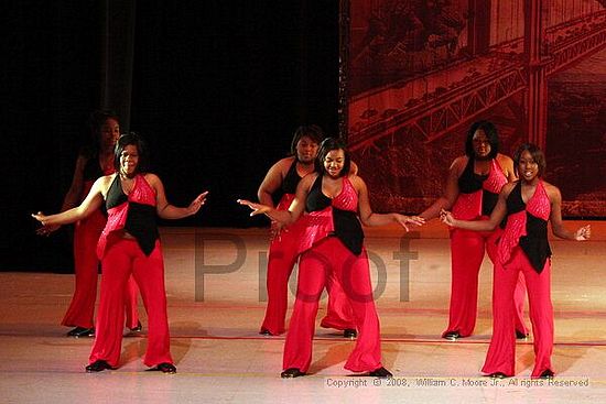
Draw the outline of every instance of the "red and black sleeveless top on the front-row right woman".
[[[511,259],[516,245],[520,245],[534,271],[543,271],[547,259],[551,256],[548,241],[550,215],[551,204],[542,181],[537,184],[527,204],[522,200],[521,182],[516,184],[507,197],[507,222],[498,248],[498,256],[504,265]]]

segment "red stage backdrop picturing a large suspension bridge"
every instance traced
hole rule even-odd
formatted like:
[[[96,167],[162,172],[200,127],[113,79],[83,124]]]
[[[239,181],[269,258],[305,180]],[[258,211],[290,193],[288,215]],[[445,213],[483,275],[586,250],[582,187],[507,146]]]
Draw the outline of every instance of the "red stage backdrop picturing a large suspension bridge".
[[[340,131],[376,210],[419,212],[479,119],[567,217],[606,217],[606,0],[342,0]]]

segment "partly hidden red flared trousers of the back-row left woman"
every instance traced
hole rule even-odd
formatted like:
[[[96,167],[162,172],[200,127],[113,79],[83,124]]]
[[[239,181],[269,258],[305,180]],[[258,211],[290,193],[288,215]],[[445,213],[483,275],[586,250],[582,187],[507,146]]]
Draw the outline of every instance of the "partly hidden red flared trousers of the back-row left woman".
[[[99,260],[97,259],[97,242],[107,218],[96,210],[86,219],[75,225],[74,229],[74,270],[76,285],[72,303],[61,321],[67,327],[94,327],[95,301],[97,299],[97,279]],[[129,279],[125,290],[125,310],[127,327],[134,328],[139,323],[137,313],[138,287],[134,280]]]

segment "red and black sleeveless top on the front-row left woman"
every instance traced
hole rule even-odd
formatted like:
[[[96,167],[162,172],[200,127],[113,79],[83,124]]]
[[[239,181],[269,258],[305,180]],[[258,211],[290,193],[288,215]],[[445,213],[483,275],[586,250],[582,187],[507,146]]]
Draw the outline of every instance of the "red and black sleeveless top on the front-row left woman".
[[[108,236],[122,229],[134,237],[145,255],[150,255],[160,234],[155,223],[155,192],[145,177],[137,174],[132,190],[126,195],[116,175],[107,192],[106,208],[108,220],[97,243],[99,260],[105,254]]]

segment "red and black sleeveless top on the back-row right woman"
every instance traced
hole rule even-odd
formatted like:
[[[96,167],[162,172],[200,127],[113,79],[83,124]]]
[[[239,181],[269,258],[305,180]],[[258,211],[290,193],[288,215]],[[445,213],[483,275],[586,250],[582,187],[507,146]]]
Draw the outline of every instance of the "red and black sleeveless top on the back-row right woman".
[[[461,220],[477,220],[490,216],[507,177],[496,159],[490,160],[487,175],[474,173],[474,159],[469,157],[458,178],[459,194],[453,206],[453,216]]]

